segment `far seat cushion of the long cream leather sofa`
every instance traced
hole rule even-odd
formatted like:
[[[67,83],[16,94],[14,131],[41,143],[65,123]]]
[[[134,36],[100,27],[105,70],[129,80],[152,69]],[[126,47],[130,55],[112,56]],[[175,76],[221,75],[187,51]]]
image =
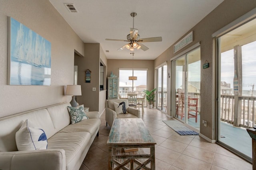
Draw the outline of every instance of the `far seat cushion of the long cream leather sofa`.
[[[63,128],[59,133],[71,133],[71,132],[89,132],[91,137],[98,130],[100,126],[100,119],[87,119],[80,121],[76,124],[70,124]]]

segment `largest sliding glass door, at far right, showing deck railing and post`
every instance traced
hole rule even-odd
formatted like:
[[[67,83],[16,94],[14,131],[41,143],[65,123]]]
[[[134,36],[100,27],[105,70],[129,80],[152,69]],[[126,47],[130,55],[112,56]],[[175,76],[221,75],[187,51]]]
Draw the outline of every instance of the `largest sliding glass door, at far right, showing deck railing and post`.
[[[252,139],[246,128],[256,126],[256,19],[217,39],[218,143],[252,160]]]

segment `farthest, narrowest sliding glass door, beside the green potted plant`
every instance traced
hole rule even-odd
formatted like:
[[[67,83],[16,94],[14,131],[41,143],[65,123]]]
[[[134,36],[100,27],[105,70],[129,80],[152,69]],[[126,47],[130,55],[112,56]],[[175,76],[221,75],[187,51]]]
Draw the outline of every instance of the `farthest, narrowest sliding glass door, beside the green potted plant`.
[[[167,106],[167,64],[157,69],[157,108],[166,112]]]

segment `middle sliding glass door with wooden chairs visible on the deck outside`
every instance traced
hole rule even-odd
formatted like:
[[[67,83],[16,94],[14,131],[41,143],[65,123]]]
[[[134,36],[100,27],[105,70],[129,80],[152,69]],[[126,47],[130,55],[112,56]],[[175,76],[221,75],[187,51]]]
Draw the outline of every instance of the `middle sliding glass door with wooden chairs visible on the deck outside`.
[[[200,130],[200,48],[172,61],[175,117]]]

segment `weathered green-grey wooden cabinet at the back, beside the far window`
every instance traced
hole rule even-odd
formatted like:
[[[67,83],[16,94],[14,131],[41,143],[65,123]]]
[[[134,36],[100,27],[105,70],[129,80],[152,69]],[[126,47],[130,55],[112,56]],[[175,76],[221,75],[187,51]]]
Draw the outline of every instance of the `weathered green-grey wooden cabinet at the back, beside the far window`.
[[[118,98],[118,77],[108,77],[108,99]]]

